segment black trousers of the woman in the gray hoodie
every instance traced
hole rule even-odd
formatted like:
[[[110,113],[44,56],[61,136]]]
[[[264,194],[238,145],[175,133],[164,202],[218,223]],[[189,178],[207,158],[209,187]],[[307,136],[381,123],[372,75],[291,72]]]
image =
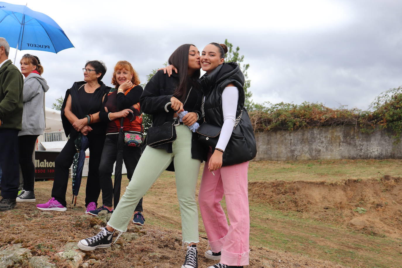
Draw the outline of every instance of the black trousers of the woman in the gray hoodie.
[[[18,137],[18,156],[24,179],[24,190],[27,191],[33,191],[35,184],[35,165],[32,161],[32,153],[38,136],[22,135]]]

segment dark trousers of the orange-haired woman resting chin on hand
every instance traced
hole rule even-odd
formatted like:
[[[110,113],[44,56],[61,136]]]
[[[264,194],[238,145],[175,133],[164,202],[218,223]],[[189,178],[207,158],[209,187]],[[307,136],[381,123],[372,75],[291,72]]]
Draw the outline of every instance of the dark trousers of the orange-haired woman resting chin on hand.
[[[117,156],[117,139],[119,134],[106,135],[105,144],[103,145],[102,158],[99,166],[99,181],[102,189],[103,205],[113,207],[113,183],[112,172],[113,164],[116,162]],[[141,147],[124,146],[123,161],[127,169],[127,178],[131,180],[138,160],[141,157]],[[142,198],[139,200],[135,211],[143,211]]]

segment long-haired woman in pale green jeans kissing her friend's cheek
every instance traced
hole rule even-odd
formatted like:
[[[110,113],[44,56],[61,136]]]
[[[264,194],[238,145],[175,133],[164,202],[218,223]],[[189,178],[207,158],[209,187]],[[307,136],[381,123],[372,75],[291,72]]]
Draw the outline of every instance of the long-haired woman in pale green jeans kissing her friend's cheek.
[[[201,161],[206,159],[207,152],[197,142],[197,134],[193,133],[189,126],[197,121],[201,123],[200,110],[203,93],[197,85],[201,67],[199,59],[197,47],[191,44],[181,45],[169,57],[169,63],[178,66],[178,74],[169,77],[163,73],[163,70],[160,70],[147,83],[140,98],[142,111],[152,115],[152,127],[162,126],[166,122],[176,122],[177,138],[170,143],[145,148],[131,182],[107,226],[93,237],[79,241],[78,247],[81,250],[109,247],[114,230],[119,232],[127,230],[127,225],[139,199],[166,168],[173,166],[180,205],[183,242],[188,245],[182,268],[198,267],[199,235],[195,187]],[[179,120],[177,113],[181,113],[183,110],[188,113]],[[173,165],[170,165],[171,163]]]

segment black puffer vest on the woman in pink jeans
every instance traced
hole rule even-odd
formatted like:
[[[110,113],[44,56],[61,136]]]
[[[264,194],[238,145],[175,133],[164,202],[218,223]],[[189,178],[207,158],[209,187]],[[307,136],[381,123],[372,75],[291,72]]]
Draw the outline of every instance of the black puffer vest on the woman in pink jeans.
[[[222,127],[224,123],[222,111],[222,92],[232,83],[239,90],[239,99],[236,108],[236,119],[243,110],[240,123],[233,130],[232,136],[223,154],[222,166],[240,164],[252,160],[256,153],[254,131],[244,108],[244,75],[236,62],[222,63],[209,75],[200,78],[201,86],[205,92],[205,121]]]

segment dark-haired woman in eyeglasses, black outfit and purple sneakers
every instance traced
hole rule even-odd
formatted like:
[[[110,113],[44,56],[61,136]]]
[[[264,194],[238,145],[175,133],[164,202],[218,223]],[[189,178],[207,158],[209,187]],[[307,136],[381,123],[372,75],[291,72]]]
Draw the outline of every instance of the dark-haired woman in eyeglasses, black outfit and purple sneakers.
[[[105,94],[110,91],[101,79],[106,66],[101,61],[88,61],[84,72],[84,81],[75,82],[67,90],[62,106],[62,123],[66,135],[70,135],[66,145],[55,160],[55,176],[51,198],[47,203],[36,207],[45,211],[66,211],[66,191],[69,168],[73,163],[76,146],[74,141],[85,135],[89,142],[89,167],[86,182],[86,213],[96,209],[100,194],[99,163],[105,142],[106,124],[100,122],[99,111],[103,108]]]

